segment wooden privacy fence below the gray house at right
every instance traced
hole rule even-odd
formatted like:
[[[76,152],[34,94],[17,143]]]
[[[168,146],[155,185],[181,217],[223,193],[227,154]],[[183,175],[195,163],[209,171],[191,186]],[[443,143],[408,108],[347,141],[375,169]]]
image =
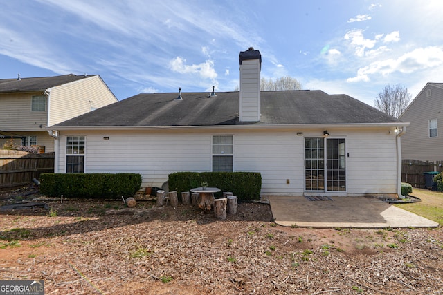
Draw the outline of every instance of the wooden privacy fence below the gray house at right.
[[[408,182],[413,187],[426,187],[425,172],[442,172],[443,161],[419,161],[402,160],[401,161],[401,182]]]

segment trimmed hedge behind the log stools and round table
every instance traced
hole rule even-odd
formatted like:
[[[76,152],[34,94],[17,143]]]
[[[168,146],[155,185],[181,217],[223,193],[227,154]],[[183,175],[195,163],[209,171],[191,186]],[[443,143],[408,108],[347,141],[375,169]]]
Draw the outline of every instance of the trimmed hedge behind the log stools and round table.
[[[224,191],[233,192],[238,200],[260,200],[262,175],[256,172],[177,172],[168,175],[170,191],[183,191],[201,187],[208,182],[208,187],[217,187],[221,191],[215,198],[221,198]]]

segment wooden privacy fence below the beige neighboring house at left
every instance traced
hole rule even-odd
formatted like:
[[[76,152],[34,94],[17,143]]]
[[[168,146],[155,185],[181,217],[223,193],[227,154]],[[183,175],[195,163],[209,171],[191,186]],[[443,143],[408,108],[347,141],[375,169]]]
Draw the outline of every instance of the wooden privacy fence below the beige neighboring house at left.
[[[42,173],[54,172],[54,153],[0,150],[0,189],[30,184]]]

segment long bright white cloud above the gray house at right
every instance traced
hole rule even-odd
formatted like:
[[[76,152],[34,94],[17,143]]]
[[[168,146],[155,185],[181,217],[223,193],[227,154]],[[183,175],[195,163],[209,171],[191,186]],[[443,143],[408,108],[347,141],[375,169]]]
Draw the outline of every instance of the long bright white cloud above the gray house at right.
[[[348,78],[347,82],[359,82],[370,80],[370,75],[390,75],[394,72],[413,73],[417,70],[433,68],[443,64],[443,50],[437,46],[426,48],[417,48],[409,53],[402,55],[397,59],[385,59],[376,61],[359,68],[356,77]]]

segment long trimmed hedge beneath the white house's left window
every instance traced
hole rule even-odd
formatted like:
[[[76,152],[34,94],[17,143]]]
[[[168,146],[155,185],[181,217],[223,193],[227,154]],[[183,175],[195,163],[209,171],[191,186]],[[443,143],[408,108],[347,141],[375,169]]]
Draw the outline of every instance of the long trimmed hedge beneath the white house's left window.
[[[120,198],[134,196],[141,182],[137,173],[43,173],[40,191],[50,197]]]

